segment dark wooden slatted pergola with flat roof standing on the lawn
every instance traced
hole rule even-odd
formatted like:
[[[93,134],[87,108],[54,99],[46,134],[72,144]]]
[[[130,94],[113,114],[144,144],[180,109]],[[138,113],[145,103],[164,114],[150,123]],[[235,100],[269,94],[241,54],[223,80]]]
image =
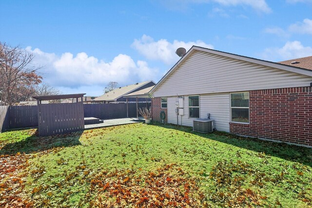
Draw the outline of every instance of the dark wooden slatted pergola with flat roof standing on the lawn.
[[[38,104],[39,136],[76,132],[84,129],[83,95],[33,96]],[[76,98],[75,103],[43,104],[42,100]],[[80,98],[80,100],[79,100]]]

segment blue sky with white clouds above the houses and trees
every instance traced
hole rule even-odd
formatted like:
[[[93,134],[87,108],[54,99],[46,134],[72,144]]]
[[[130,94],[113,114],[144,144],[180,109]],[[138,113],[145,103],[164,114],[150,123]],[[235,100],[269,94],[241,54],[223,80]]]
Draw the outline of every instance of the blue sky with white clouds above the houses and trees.
[[[312,56],[312,0],[0,0],[0,41],[63,94],[158,82],[193,45],[269,61]]]

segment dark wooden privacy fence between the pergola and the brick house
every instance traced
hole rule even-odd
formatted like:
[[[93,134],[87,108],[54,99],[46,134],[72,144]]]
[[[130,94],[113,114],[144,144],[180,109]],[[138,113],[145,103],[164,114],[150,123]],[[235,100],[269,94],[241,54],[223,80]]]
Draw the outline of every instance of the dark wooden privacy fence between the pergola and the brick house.
[[[128,103],[127,116],[126,103],[84,104],[84,117],[96,117],[99,119],[137,117],[137,105],[138,108],[151,107],[151,103]]]

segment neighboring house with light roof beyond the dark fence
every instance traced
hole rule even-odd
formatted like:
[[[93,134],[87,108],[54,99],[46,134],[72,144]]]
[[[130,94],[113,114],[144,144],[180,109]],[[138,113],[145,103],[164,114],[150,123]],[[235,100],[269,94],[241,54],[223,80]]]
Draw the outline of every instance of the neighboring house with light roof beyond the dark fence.
[[[112,90],[108,93],[105,93],[104,95],[101,95],[93,100],[93,102],[97,103],[125,103],[127,100],[128,102],[146,102],[145,98],[135,98],[130,97],[126,98],[125,95],[129,95],[131,93],[135,93],[140,90],[144,90],[146,88],[155,86],[156,83],[154,81],[145,81],[140,82],[124,87],[119,87],[115,90]]]

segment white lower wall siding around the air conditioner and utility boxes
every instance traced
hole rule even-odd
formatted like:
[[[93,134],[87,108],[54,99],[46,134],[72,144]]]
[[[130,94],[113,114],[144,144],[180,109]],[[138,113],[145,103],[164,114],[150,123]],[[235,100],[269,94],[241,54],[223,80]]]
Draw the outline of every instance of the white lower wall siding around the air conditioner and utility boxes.
[[[229,93],[212,94],[199,96],[200,118],[207,118],[207,113],[211,114],[211,119],[215,119],[215,128],[218,131],[230,132],[230,98]],[[176,97],[168,97],[168,123],[176,122]],[[184,95],[184,115],[178,116],[178,124],[193,127],[193,120],[189,118],[188,95]],[[181,123],[182,122],[182,123]]]

